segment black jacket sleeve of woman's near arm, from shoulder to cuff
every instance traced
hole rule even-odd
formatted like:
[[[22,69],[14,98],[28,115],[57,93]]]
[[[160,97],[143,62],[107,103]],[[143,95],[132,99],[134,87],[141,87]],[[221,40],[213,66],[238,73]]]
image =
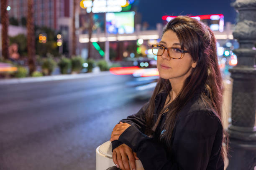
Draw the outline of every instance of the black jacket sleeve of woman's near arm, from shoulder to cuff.
[[[220,126],[213,112],[196,111],[183,117],[177,122],[172,159],[163,145],[141,133],[136,126],[127,128],[118,141],[137,153],[145,170],[206,170],[215,137],[222,135],[217,133]],[[218,153],[222,144],[222,138],[219,139]]]

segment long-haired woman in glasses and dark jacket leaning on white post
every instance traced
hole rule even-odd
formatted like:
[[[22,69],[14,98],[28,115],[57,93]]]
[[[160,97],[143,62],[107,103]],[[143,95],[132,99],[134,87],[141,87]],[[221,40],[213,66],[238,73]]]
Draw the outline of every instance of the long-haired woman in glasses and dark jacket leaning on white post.
[[[122,170],[223,170],[222,78],[216,39],[188,16],[171,20],[152,45],[160,79],[151,99],[113,129],[113,162]]]

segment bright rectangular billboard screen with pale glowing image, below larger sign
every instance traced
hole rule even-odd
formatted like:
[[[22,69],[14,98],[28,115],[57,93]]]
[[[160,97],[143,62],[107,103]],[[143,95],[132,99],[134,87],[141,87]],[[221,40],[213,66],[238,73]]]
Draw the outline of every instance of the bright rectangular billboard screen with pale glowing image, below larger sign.
[[[110,34],[131,34],[134,32],[135,12],[107,13],[106,29]]]

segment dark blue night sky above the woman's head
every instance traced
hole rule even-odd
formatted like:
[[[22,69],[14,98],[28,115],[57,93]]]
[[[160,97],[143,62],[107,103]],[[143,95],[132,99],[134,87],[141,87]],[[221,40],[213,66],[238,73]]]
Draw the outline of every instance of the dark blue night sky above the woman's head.
[[[151,27],[162,23],[163,15],[223,14],[224,22],[236,23],[236,10],[230,5],[235,0],[137,0],[141,23]],[[136,0],[135,0],[136,3]]]

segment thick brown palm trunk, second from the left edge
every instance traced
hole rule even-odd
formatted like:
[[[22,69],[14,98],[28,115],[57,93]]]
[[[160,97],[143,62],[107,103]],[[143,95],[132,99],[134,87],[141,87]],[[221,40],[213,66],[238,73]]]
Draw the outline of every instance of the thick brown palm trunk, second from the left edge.
[[[27,16],[27,45],[28,45],[28,67],[29,74],[36,70],[35,65],[35,30],[33,18],[33,0],[28,0],[28,16]]]

